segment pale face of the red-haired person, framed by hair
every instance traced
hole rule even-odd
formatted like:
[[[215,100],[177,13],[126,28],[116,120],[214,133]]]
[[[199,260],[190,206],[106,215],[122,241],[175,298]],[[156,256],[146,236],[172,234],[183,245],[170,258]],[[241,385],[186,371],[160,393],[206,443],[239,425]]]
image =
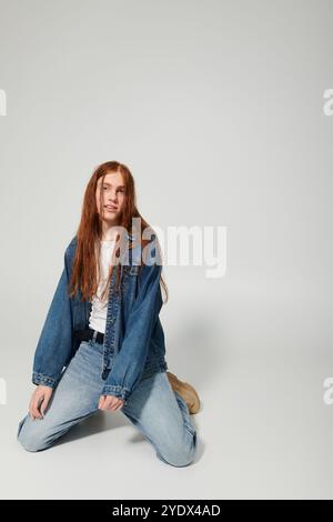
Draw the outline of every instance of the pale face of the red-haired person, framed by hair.
[[[124,205],[125,199],[125,187],[123,179],[120,172],[110,172],[104,177],[103,185],[102,178],[98,180],[97,191],[95,191],[95,204],[98,212],[102,215],[100,209],[100,193],[102,192],[102,205],[103,213],[102,217],[104,221],[112,224],[117,224],[121,211]]]

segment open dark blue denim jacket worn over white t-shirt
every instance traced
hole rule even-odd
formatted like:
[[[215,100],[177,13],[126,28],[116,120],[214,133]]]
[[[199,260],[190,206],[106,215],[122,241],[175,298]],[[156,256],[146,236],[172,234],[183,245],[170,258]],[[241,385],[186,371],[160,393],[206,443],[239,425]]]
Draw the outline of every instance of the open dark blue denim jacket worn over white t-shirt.
[[[75,249],[77,235],[65,249],[64,268],[34,352],[34,384],[57,385],[80,345],[77,332],[89,328],[91,302],[81,301],[80,291],[72,298],[68,295]],[[141,379],[168,370],[164,333],[159,318],[162,265],[143,264],[139,277],[140,262],[139,244],[129,251],[128,264],[121,267],[121,292],[112,292],[115,288],[113,271],[103,342],[101,377],[104,385],[101,395],[114,395],[125,403]]]

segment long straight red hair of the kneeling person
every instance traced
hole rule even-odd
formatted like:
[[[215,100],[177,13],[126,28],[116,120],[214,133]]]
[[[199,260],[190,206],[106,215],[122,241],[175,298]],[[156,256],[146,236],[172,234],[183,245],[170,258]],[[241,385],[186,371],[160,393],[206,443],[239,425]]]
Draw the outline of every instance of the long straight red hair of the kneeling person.
[[[125,198],[123,202],[122,212],[120,215],[120,227],[127,230],[127,232],[131,235],[134,233],[137,234],[137,229],[133,230],[132,219],[140,218],[141,222],[141,231],[143,232],[147,228],[153,231],[153,229],[149,225],[149,223],[142,218],[138,208],[137,208],[137,195],[135,195],[135,184],[132,173],[130,169],[124,165],[123,163],[119,163],[118,161],[107,161],[105,163],[100,164],[94,172],[92,173],[88,185],[85,188],[83,203],[82,203],[82,211],[81,211],[81,220],[77,232],[77,250],[73,260],[73,270],[71,281],[69,283],[69,295],[73,297],[78,291],[81,292],[82,301],[91,301],[92,297],[95,294],[99,285],[99,273],[100,273],[100,240],[102,239],[102,218],[98,212],[97,202],[95,202],[95,192],[97,192],[97,184],[100,178],[102,178],[101,183],[103,183],[104,177],[111,172],[120,172],[123,179],[123,184],[125,187]],[[102,191],[100,192],[100,203],[102,203]],[[103,212],[103,204],[100,204],[101,212]],[[161,250],[158,241],[158,237],[155,235],[155,245],[158,248],[158,254],[161,257]],[[117,240],[119,240],[119,234]],[[141,241],[141,248],[143,249],[150,241],[139,238]],[[134,241],[138,243],[138,237]],[[128,248],[132,249],[133,244],[132,241],[129,242]],[[118,243],[117,243],[118,244]],[[105,292],[109,291],[110,287],[110,279],[112,277],[113,269],[117,270],[117,288],[115,290],[119,291],[120,285],[120,263],[115,263],[115,258],[120,254],[120,248],[115,248],[113,250],[110,271],[107,284],[103,289],[103,292],[100,299],[104,299]],[[139,275],[142,269],[142,262],[139,265]],[[165,292],[165,297],[168,301],[169,292],[167,284],[161,275],[160,282],[163,287]]]

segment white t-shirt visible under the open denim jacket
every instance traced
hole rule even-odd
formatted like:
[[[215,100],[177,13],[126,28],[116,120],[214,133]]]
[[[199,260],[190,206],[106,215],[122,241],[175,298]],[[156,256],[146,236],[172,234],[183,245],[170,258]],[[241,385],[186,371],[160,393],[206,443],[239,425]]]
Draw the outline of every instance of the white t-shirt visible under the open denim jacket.
[[[99,332],[105,333],[105,322],[107,322],[107,312],[108,312],[108,299],[101,301],[100,297],[105,282],[109,275],[109,269],[111,264],[112,251],[114,249],[115,240],[111,241],[101,241],[101,254],[100,254],[100,265],[101,265],[101,278],[99,281],[99,287],[97,294],[92,298],[92,308],[89,318],[89,328],[92,330],[98,330]]]

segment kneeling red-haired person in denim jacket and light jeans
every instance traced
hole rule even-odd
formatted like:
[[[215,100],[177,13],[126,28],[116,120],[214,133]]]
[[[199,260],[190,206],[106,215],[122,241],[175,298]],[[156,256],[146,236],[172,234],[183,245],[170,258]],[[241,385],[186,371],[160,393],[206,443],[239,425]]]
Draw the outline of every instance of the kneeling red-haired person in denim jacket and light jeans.
[[[37,385],[18,440],[50,448],[98,410],[121,411],[171,465],[193,461],[194,388],[167,371],[161,250],[137,209],[134,180],[117,161],[88,182],[81,222],[33,359]]]

